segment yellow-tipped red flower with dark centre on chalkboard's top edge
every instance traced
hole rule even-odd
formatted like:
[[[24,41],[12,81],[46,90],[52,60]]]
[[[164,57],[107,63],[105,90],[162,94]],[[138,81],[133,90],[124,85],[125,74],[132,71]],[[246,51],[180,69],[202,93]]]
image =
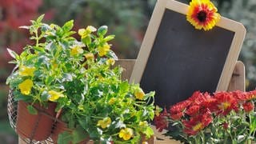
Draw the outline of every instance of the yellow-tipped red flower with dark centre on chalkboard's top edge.
[[[221,18],[217,11],[210,0],[192,0],[186,14],[186,20],[195,29],[211,30]]]

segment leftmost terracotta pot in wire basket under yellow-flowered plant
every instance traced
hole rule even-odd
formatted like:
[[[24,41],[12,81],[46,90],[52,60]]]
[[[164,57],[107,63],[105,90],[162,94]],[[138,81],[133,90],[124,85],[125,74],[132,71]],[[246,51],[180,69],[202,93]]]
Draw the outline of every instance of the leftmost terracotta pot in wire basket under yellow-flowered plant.
[[[56,113],[54,112],[57,104],[55,102],[49,102],[47,109],[34,104],[34,107],[38,110],[38,114],[30,114],[26,109],[28,103],[18,102],[18,114],[16,131],[22,138],[30,138],[36,141],[45,140],[50,136],[52,126],[54,125],[54,118]]]

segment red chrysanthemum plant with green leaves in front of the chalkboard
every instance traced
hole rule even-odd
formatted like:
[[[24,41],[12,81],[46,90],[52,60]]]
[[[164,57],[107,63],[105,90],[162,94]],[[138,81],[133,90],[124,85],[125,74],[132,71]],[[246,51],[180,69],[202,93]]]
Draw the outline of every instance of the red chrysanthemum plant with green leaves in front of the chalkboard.
[[[185,143],[255,142],[256,91],[199,91],[154,118],[159,131]],[[160,110],[160,109],[159,109]]]

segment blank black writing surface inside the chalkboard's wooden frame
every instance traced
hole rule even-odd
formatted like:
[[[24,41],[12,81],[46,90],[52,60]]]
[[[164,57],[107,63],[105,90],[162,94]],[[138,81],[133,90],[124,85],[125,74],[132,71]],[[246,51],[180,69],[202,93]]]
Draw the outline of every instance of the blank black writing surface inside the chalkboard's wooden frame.
[[[141,80],[143,90],[155,90],[155,104],[170,106],[195,90],[214,92],[230,50],[234,32],[215,27],[195,30],[183,14],[165,10]]]

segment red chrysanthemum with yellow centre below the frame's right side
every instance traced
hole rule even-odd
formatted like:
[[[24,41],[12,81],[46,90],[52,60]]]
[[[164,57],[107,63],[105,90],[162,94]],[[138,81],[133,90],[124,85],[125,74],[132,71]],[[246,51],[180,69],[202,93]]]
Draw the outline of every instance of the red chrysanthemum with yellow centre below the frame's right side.
[[[218,92],[214,94],[216,101],[214,102],[214,107],[211,109],[217,114],[226,115],[229,114],[231,110],[238,112],[238,102],[233,97],[232,94],[227,92]]]

